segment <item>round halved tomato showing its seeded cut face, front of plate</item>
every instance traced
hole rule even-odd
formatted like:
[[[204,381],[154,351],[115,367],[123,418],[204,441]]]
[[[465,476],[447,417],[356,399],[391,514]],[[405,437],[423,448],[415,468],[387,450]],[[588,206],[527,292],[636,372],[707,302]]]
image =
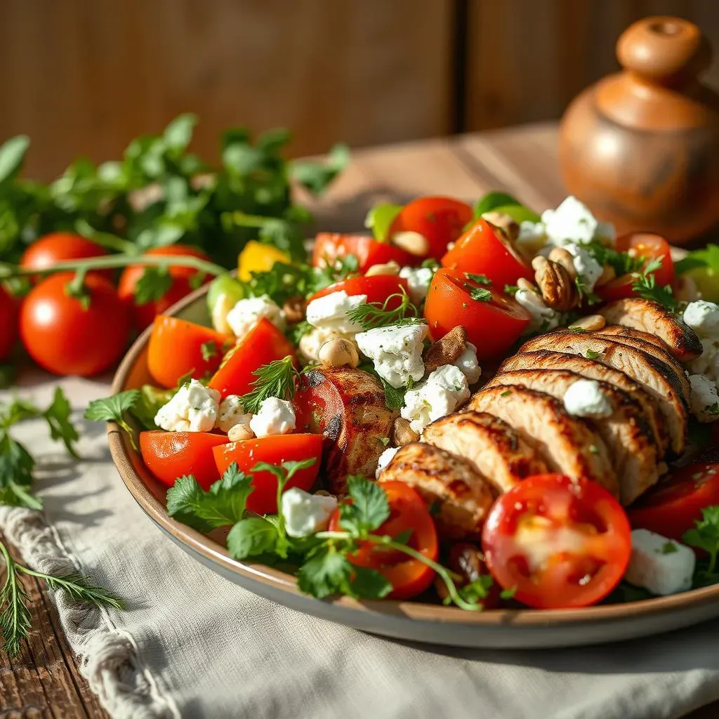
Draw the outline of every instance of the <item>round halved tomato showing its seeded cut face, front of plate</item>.
[[[611,592],[631,555],[619,503],[589,480],[536,475],[500,495],[482,530],[487,567],[530,607],[586,607]]]

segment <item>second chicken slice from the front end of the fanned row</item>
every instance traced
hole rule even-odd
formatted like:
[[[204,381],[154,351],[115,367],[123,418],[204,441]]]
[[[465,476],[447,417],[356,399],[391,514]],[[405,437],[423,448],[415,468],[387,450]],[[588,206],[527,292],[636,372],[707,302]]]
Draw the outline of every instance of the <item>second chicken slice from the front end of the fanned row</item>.
[[[485,412],[457,412],[424,429],[422,441],[466,459],[498,493],[547,471],[544,460],[506,422]]]

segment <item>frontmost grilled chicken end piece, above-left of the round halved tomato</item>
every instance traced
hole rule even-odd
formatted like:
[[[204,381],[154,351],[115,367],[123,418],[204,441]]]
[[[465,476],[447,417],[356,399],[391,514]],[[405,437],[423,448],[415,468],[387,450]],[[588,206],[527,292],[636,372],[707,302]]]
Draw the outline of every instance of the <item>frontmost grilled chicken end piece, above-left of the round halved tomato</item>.
[[[434,523],[441,539],[479,536],[494,495],[489,482],[470,462],[430,444],[400,447],[380,481],[403,482],[427,505],[436,507]]]

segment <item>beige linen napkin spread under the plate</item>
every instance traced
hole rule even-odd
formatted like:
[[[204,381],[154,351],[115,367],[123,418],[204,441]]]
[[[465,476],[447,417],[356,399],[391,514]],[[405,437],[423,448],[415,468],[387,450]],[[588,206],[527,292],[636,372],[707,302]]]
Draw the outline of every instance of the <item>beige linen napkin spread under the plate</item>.
[[[653,719],[719,698],[719,622],[586,649],[486,651],[390,641],[252,595],[184,554],[134,503],[104,426],[80,420],[109,385],[60,384],[78,409],[83,459],[65,458],[40,423],[18,426],[40,460],[45,512],[0,508],[0,526],[32,566],[78,569],[127,600],[119,612],[57,597],[113,718]],[[55,386],[37,376],[25,385],[22,395],[43,402]]]

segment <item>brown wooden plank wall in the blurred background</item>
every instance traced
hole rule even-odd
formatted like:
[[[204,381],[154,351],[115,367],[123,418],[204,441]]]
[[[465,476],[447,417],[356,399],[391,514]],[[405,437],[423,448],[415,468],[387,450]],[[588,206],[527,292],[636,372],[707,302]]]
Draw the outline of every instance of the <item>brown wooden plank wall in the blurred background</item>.
[[[47,179],[183,111],[209,156],[232,124],[297,155],[551,119],[647,14],[719,52],[719,0],[0,0],[0,140],[29,134]]]

